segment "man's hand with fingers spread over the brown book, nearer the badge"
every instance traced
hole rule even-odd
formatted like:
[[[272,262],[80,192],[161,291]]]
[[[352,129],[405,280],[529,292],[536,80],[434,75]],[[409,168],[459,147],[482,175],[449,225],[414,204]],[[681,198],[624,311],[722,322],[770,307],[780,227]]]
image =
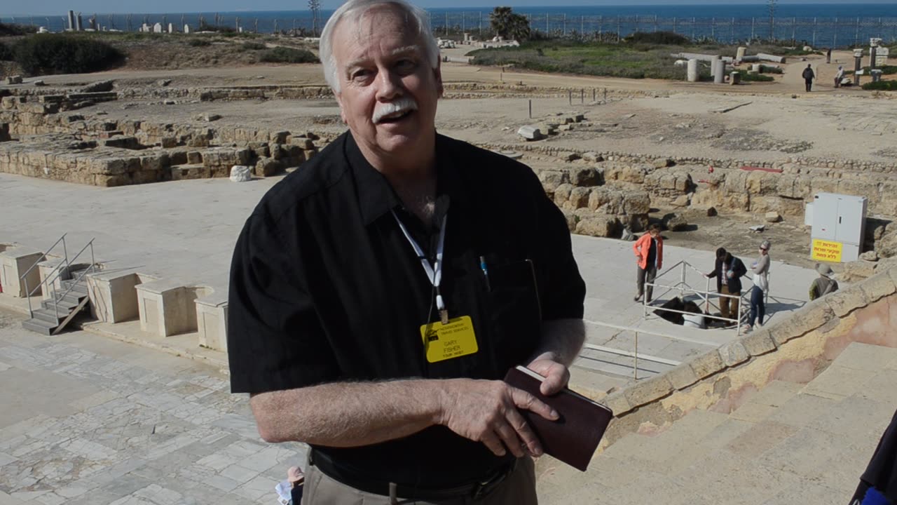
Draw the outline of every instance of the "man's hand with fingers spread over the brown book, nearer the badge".
[[[483,442],[496,456],[542,456],[542,445],[518,409],[555,421],[558,413],[536,396],[498,380],[449,379],[440,395],[438,424],[466,438]]]

